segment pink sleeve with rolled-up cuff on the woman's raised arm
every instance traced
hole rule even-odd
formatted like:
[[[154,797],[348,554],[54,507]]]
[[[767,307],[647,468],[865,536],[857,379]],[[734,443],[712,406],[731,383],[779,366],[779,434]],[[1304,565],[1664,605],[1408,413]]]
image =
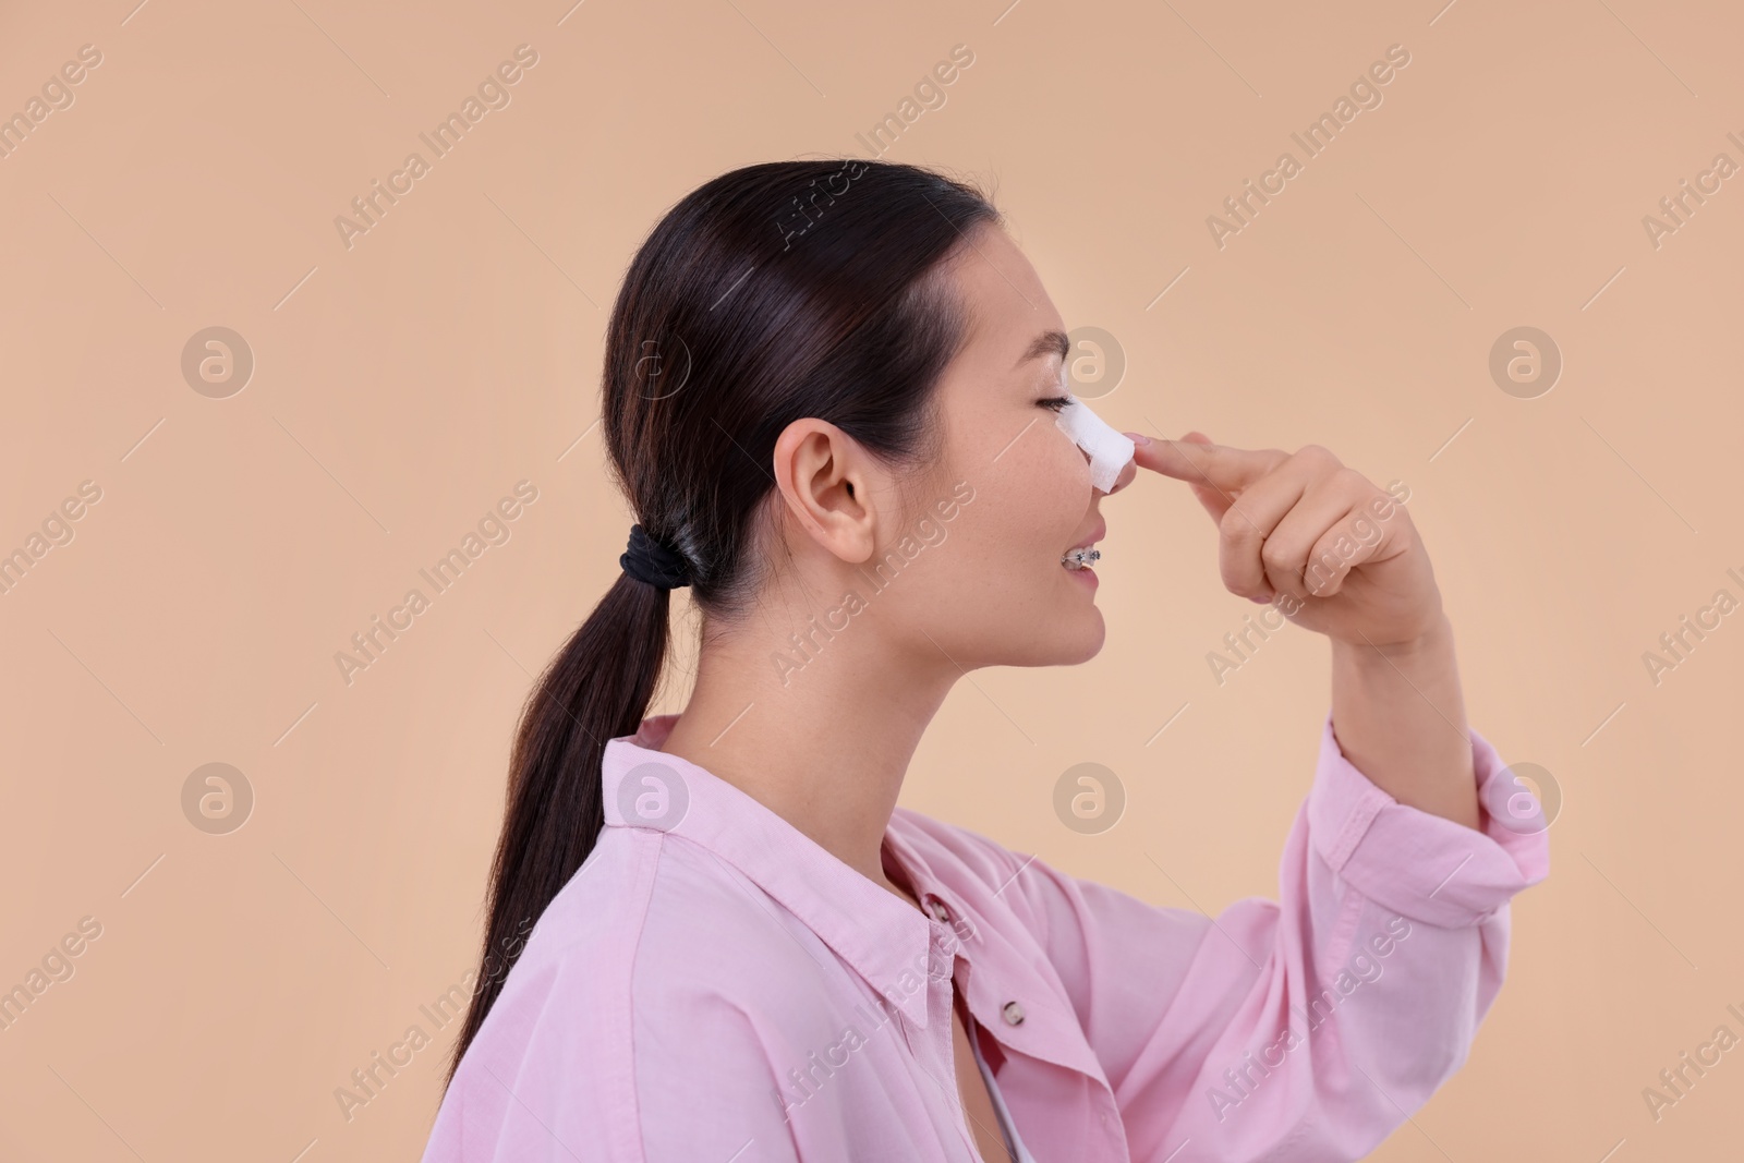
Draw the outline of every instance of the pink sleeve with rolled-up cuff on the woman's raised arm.
[[[1549,874],[1542,816],[1493,814],[1531,800],[1470,741],[1481,828],[1399,804],[1329,713],[1277,901],[1207,917],[1039,860],[1013,874],[1134,1158],[1359,1160],[1460,1069],[1507,969],[1509,900]]]

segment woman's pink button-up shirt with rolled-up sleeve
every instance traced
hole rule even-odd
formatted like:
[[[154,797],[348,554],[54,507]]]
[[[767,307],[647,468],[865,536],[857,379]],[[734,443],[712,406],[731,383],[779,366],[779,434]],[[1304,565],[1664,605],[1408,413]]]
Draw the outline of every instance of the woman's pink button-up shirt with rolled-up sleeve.
[[[1465,1062],[1549,872],[1475,731],[1482,832],[1393,800],[1327,715],[1278,901],[1162,908],[898,807],[926,915],[656,752],[675,720],[607,743],[607,826],[424,1163],[968,1163],[952,987],[1038,1163],[1359,1160]]]

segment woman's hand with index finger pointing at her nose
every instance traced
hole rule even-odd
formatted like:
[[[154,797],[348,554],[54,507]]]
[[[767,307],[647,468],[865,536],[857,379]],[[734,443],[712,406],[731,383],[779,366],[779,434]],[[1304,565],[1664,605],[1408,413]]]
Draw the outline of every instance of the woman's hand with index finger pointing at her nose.
[[[1230,593],[1352,645],[1416,643],[1442,624],[1435,572],[1404,504],[1320,445],[1249,450],[1188,432],[1137,445],[1134,460],[1186,481],[1217,521]]]

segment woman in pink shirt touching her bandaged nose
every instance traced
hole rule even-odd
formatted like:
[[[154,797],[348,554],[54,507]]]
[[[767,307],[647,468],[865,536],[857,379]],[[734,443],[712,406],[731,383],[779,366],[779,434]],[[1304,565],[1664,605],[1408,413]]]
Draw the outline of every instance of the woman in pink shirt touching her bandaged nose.
[[[1411,518],[1318,446],[1111,469],[1062,330],[910,166],[750,166],[654,228],[605,350],[637,525],[520,725],[429,1163],[1355,1160],[1460,1067],[1549,856]],[[896,807],[970,670],[1102,647],[1080,567],[1139,467],[1332,640],[1280,903],[1156,908]],[[694,694],[644,718],[680,586]]]

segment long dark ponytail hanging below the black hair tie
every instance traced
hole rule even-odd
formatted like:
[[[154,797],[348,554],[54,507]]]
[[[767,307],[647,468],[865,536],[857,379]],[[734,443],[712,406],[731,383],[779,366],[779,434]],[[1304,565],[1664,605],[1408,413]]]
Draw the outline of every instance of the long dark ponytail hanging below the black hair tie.
[[[605,591],[521,708],[508,807],[490,867],[490,917],[446,1081],[502,992],[527,931],[600,839],[605,741],[640,727],[666,659],[671,598],[628,574]]]

